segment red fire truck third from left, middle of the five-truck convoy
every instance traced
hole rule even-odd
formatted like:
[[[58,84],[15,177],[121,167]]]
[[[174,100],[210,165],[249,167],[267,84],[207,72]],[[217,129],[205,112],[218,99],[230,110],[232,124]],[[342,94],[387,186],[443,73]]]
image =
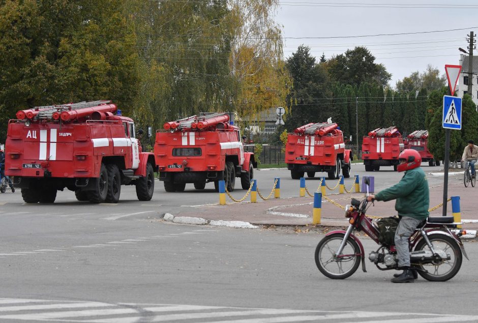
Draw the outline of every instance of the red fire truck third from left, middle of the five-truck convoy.
[[[338,179],[340,169],[345,178],[350,177],[352,151],[345,149],[344,136],[336,123],[309,123],[298,127],[287,136],[285,162],[293,180],[309,178],[315,172],[328,173],[328,179]]]

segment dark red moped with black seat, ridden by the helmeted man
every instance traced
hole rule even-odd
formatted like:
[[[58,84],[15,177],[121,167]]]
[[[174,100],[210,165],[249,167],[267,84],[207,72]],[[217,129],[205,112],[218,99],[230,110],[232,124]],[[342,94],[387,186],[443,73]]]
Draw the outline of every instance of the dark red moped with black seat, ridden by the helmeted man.
[[[315,263],[326,277],[347,278],[359,268],[360,262],[362,270],[367,272],[364,247],[354,231],[365,232],[379,245],[368,256],[378,269],[399,269],[395,246],[379,242],[378,227],[365,215],[369,203],[366,199],[352,198],[351,204],[345,207],[345,217],[349,219],[347,230],[328,232],[317,245]],[[446,281],[458,273],[462,256],[468,259],[460,238],[466,231],[455,233],[453,230],[459,224],[453,216],[428,217],[415,229],[410,237],[410,264],[420,276],[431,281]]]

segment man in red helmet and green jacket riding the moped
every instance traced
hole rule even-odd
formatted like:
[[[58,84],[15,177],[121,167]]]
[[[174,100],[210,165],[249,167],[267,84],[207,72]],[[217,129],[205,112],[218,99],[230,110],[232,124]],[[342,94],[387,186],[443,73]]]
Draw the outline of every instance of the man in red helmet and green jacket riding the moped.
[[[400,164],[397,171],[405,171],[400,182],[375,195],[369,195],[368,201],[390,201],[397,199],[395,210],[400,217],[395,231],[395,247],[401,274],[395,274],[394,283],[413,282],[417,278],[415,270],[410,268],[410,251],[408,240],[415,228],[428,218],[430,193],[425,172],[420,167],[422,157],[412,149],[406,149],[399,155]]]

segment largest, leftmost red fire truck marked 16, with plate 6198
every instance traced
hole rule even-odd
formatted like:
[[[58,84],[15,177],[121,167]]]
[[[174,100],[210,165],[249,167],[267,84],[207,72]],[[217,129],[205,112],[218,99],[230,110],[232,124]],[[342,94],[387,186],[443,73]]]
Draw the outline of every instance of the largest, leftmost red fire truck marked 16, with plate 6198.
[[[152,198],[154,155],[141,152],[133,120],[115,104],[40,106],[16,116],[8,124],[5,173],[25,202],[52,203],[66,187],[80,201],[116,203],[121,185],[135,185],[139,200]]]

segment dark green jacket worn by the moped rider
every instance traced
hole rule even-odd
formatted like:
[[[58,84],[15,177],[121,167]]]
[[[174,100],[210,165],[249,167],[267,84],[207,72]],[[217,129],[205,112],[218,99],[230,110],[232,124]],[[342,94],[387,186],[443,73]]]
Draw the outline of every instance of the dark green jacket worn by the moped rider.
[[[421,167],[407,170],[398,184],[378,192],[375,199],[397,199],[395,210],[399,216],[425,220],[430,206],[427,176]]]

